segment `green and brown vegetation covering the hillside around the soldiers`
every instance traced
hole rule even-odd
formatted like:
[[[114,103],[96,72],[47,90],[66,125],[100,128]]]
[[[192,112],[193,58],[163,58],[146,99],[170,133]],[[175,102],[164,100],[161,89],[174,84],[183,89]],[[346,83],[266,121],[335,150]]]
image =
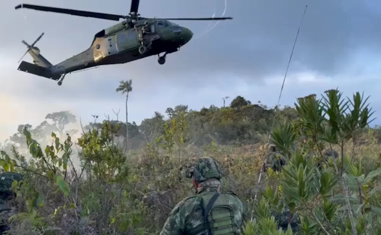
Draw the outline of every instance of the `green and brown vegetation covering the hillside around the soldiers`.
[[[120,87],[127,104],[131,81]],[[372,111],[360,93],[329,90],[283,108],[239,96],[228,107],[179,105],[166,114],[127,126],[118,114],[94,115],[66,130],[78,120],[62,111],[37,127],[20,125],[0,160],[3,171],[24,175],[13,182],[12,216],[2,215],[8,232],[158,234],[173,206],[194,193],[187,164],[212,156],[224,170],[223,192],[245,204],[242,234],[293,234],[272,217],[284,207],[300,216],[298,234],[381,234],[381,135],[369,127]],[[269,134],[287,166],[268,169],[258,183]],[[338,158],[323,154],[331,149]]]

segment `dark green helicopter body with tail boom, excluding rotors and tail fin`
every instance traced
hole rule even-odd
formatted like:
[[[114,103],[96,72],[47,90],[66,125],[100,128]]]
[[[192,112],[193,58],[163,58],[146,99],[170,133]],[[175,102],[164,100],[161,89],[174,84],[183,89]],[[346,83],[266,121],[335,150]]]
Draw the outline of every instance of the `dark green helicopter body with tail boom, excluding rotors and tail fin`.
[[[173,53],[189,42],[192,35],[189,29],[167,20],[145,20],[141,26],[135,23],[135,27],[123,21],[98,32],[90,48],[54,65],[51,71],[67,74],[99,65],[123,64],[160,53]]]

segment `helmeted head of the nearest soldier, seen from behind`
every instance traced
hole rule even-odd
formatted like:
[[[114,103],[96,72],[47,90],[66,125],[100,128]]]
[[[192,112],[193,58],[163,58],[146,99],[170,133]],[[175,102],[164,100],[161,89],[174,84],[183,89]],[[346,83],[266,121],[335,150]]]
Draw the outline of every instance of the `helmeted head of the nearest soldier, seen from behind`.
[[[187,177],[193,179],[197,192],[204,188],[217,188],[219,191],[222,178],[221,166],[214,158],[199,158],[189,168]]]

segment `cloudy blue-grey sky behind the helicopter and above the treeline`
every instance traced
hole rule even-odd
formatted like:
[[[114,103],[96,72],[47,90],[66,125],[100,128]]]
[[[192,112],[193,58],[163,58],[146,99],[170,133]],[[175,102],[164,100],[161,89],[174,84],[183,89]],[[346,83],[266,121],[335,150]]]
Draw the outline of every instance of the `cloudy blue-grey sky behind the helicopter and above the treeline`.
[[[17,70],[26,47],[21,40],[37,42],[41,54],[57,64],[86,50],[96,32],[115,21],[30,9],[29,3],[112,14],[128,14],[130,0],[5,0],[0,8],[0,141],[16,132],[19,124],[37,126],[46,114],[69,110],[83,122],[120,109],[125,120],[125,97],[116,93],[120,80],[132,79],[128,101],[129,121],[138,124],[179,104],[190,109],[222,106],[223,97],[241,95],[252,103],[277,103],[296,31],[305,5],[293,59],[280,99],[293,105],[297,97],[338,89],[370,95],[381,110],[381,2],[376,0],[227,0],[226,13],[233,20],[216,22],[175,21],[194,32],[190,42],[157,63],[151,56],[126,64],[101,66],[55,81]],[[144,17],[222,16],[225,0],[141,0]],[[205,33],[206,32],[206,33]],[[23,60],[32,62],[29,55]],[[373,124],[380,124],[376,119]]]

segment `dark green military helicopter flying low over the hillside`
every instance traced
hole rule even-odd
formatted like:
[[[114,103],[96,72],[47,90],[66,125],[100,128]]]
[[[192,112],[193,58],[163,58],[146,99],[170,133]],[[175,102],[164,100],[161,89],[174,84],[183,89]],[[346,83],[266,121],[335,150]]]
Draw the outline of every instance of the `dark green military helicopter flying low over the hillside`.
[[[148,56],[157,55],[158,63],[164,64],[166,55],[177,52],[193,36],[193,32],[186,27],[179,26],[170,20],[224,20],[221,18],[144,18],[138,13],[139,0],[131,1],[130,13],[126,16],[106,14],[91,11],[80,11],[49,6],[19,4],[15,9],[29,8],[39,11],[71,14],[98,19],[108,19],[122,22],[107,29],[102,29],[94,35],[90,47],[71,58],[58,64],[51,64],[40,54],[40,49],[35,44],[44,35],[42,33],[31,45],[25,40],[21,42],[27,46],[33,63],[22,61],[18,70],[30,74],[58,81],[62,85],[66,74],[98,68],[107,64],[124,64]],[[160,56],[160,53],[164,53]]]

